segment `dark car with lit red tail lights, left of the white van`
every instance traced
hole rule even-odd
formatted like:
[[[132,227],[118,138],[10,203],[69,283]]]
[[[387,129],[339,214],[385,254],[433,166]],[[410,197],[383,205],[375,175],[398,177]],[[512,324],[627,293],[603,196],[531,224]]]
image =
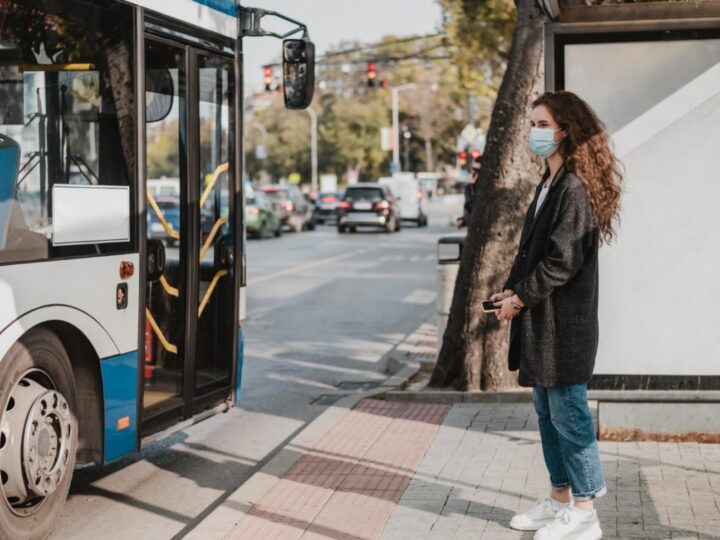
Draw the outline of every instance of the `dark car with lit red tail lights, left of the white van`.
[[[400,209],[390,188],[375,183],[347,188],[338,204],[338,232],[355,232],[359,226],[382,227],[388,233],[400,230]]]

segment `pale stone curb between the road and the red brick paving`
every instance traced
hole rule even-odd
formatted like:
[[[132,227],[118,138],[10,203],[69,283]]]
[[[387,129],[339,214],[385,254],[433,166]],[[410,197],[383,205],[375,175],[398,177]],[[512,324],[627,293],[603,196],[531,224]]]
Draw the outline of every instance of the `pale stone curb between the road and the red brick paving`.
[[[409,351],[426,335],[426,329],[426,323],[421,324],[381,358],[389,369],[393,371],[397,369],[397,371],[385,379],[380,386],[344,397],[328,406],[184,538],[187,540],[224,538],[306,454],[306,449],[315,446],[355,405],[363,399],[386,394],[391,388],[404,388],[420,370],[420,362],[412,361]],[[401,352],[402,354],[399,354]]]

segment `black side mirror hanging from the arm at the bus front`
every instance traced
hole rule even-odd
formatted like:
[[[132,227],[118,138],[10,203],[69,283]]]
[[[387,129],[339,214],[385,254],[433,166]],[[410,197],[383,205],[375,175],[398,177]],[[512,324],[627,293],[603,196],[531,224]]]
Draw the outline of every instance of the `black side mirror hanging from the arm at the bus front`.
[[[283,41],[285,107],[306,109],[315,92],[315,45],[307,38]]]

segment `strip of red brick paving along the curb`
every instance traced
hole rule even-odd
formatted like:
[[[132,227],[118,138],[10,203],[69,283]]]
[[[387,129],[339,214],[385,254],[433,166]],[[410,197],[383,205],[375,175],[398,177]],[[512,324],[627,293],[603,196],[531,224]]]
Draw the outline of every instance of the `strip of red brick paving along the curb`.
[[[226,538],[379,538],[447,411],[446,405],[361,401]]]

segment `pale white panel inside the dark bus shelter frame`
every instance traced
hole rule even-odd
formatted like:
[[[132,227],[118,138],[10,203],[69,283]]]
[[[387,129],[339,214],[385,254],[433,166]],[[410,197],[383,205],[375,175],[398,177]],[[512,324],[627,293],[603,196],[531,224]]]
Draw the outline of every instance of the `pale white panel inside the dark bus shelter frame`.
[[[601,248],[598,374],[720,373],[720,40],[568,45],[627,192]]]

